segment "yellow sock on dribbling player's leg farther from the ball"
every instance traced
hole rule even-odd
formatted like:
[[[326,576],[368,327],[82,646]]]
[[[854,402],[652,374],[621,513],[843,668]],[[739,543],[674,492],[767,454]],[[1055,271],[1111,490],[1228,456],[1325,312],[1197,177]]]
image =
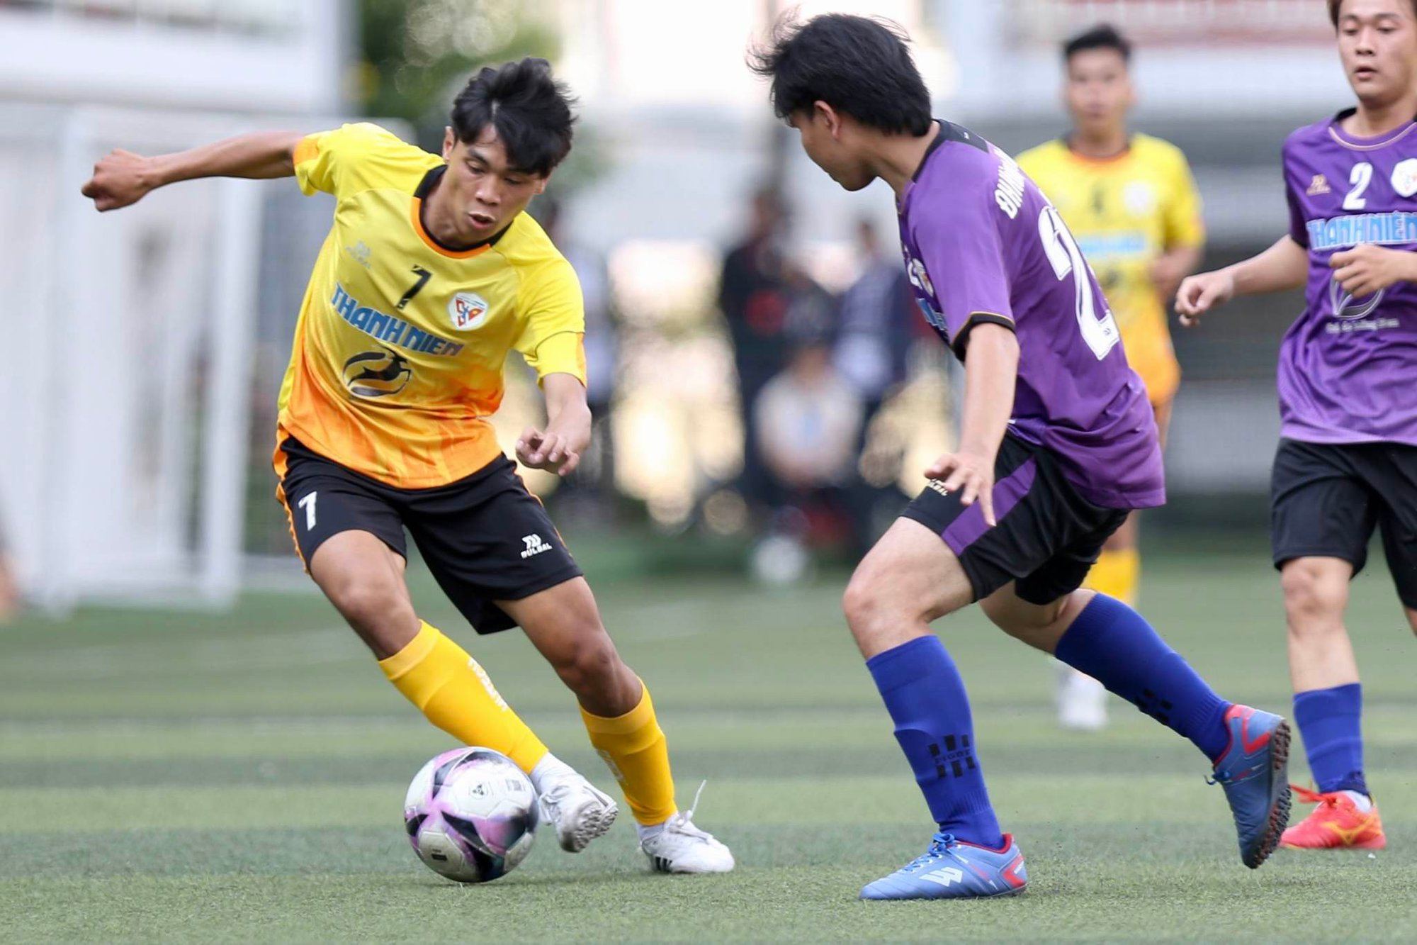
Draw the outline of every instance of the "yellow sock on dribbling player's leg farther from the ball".
[[[640,824],[663,823],[679,810],[674,779],[669,772],[669,744],[655,718],[649,688],[640,681],[639,705],[618,718],[591,715],[584,708],[585,731],[625,792],[625,802]]]

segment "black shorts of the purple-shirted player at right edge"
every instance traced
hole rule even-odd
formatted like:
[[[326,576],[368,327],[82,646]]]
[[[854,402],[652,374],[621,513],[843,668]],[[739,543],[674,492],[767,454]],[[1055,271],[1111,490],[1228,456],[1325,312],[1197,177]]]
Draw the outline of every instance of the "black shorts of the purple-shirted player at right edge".
[[[1382,529],[1397,596],[1417,609],[1417,447],[1280,440],[1271,487],[1275,568],[1340,558],[1356,575]]]

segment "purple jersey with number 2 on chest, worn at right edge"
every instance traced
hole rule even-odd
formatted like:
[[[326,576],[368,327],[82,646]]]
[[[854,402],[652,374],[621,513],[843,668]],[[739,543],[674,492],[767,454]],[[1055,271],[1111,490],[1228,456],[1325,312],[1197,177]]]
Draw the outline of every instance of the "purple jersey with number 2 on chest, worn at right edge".
[[[1329,257],[1359,243],[1417,250],[1417,122],[1345,135],[1346,115],[1284,143],[1289,236],[1309,251],[1304,314],[1280,348],[1282,436],[1417,446],[1417,285],[1353,298]]]

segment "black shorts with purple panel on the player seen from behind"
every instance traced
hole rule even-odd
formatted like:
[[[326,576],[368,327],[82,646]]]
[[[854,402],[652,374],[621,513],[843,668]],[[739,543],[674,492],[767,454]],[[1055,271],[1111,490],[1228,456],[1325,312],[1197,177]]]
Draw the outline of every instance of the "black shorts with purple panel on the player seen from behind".
[[[1127,521],[1128,509],[1093,505],[1063,475],[1057,458],[1041,447],[1006,436],[993,467],[989,528],[979,502],[964,507],[958,492],[931,480],[903,515],[937,532],[955,553],[975,600],[1010,580],[1034,604],[1049,604],[1083,586],[1102,545]]]

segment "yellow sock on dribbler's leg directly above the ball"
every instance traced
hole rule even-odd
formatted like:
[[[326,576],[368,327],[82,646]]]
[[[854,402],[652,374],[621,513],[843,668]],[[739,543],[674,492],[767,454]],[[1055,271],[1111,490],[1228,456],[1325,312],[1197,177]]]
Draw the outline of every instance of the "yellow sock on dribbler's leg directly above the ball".
[[[503,701],[486,671],[436,627],[424,623],[408,646],[378,665],[429,722],[463,745],[499,751],[527,773],[546,756],[546,745]],[[653,722],[653,709],[649,718]],[[663,745],[663,735],[659,741]]]

